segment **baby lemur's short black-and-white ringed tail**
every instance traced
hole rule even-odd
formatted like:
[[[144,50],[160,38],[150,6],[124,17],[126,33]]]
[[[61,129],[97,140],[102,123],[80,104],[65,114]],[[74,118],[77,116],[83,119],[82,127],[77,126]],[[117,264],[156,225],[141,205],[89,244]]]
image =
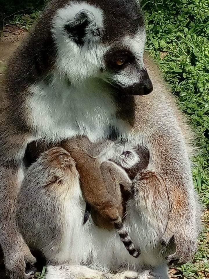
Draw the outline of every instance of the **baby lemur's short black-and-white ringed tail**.
[[[120,235],[120,239],[122,243],[125,245],[125,248],[128,250],[129,254],[134,258],[138,258],[138,256],[141,254],[141,250],[136,249],[134,247],[134,243],[128,234],[127,228],[122,223],[120,224],[117,223],[114,225],[115,228],[118,229],[118,234]]]

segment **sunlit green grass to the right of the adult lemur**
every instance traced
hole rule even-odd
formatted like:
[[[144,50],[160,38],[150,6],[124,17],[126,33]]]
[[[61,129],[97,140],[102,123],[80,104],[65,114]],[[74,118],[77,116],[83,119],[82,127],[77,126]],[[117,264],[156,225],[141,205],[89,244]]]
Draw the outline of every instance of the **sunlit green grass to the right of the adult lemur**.
[[[199,153],[193,159],[193,176],[207,209],[194,262],[175,267],[172,277],[209,278],[209,1],[143,0],[142,5],[147,22],[146,50],[157,60],[197,135]],[[33,21],[26,24],[19,15],[13,19],[23,27]],[[42,279],[43,274],[36,278]]]

